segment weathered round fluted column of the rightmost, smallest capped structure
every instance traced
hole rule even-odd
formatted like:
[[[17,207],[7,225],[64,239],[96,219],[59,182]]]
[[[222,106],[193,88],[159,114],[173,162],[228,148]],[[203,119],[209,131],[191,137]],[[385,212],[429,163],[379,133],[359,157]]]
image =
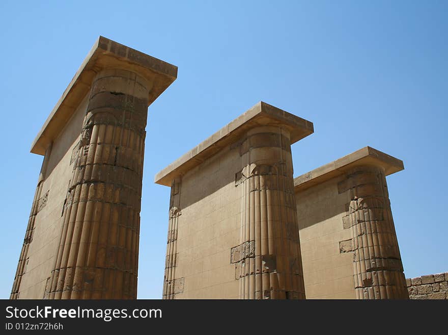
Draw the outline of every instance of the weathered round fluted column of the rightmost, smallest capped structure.
[[[356,297],[408,299],[384,170],[376,166],[353,168],[343,184],[350,190]]]

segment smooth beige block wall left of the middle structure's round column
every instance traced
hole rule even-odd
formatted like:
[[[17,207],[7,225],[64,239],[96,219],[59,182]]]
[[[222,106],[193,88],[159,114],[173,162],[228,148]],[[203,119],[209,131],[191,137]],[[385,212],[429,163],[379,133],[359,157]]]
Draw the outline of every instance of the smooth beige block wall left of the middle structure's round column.
[[[241,159],[227,149],[173,182],[164,299],[238,299],[230,249],[239,244]]]

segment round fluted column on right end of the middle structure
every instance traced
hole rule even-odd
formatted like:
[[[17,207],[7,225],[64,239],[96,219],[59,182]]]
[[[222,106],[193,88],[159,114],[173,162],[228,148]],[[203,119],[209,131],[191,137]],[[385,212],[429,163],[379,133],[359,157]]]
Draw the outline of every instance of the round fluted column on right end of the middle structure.
[[[290,133],[259,126],[241,144],[241,244],[232,249],[241,299],[304,299]]]

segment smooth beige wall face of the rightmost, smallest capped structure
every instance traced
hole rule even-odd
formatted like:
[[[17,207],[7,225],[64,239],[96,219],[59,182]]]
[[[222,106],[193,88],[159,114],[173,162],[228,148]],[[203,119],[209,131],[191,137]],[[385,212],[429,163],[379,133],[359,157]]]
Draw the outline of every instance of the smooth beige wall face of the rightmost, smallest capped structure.
[[[347,201],[338,183],[343,178],[296,193],[306,299],[356,299],[353,254],[340,250],[340,242],[351,238],[342,223]]]

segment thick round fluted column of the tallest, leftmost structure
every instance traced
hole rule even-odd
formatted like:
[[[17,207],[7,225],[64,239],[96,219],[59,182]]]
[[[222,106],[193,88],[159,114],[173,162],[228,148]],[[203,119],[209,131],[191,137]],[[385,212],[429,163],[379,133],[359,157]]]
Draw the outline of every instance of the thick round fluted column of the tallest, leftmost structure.
[[[94,79],[47,298],[136,298],[150,89],[128,70]]]

